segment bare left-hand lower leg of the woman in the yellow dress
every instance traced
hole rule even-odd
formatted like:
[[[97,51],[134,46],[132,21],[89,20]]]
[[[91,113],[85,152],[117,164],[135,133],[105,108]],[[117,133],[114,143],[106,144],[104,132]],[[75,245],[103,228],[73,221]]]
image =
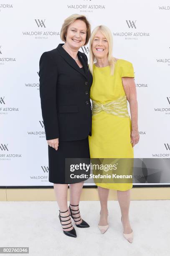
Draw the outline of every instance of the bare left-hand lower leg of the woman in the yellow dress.
[[[100,199],[100,205],[101,205],[99,225],[104,226],[104,225],[108,225],[108,222],[107,222],[107,215],[108,215],[107,200],[108,200],[108,195],[109,195],[109,189],[106,189],[103,187],[98,187],[98,193],[99,193],[99,199]]]

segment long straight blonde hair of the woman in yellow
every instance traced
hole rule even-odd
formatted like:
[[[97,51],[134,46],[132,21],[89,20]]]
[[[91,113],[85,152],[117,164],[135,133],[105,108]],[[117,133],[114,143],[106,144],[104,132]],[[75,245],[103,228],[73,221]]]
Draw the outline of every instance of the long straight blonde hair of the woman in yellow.
[[[111,71],[110,74],[113,75],[114,74],[114,64],[116,63],[117,59],[112,56],[112,49],[113,49],[112,33],[111,33],[110,29],[104,25],[97,26],[96,28],[94,28],[94,30],[91,33],[89,70],[90,70],[91,74],[93,74],[93,64],[94,64],[94,62],[96,62],[96,57],[92,50],[92,44],[93,44],[94,37],[98,30],[101,31],[101,33],[106,37],[106,39],[108,41],[108,44],[109,44],[108,63],[110,66],[110,71]]]

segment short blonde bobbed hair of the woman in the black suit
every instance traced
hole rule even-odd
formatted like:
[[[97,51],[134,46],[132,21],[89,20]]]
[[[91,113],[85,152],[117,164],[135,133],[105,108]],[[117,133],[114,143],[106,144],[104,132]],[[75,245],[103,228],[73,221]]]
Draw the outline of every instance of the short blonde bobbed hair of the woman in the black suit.
[[[72,14],[68,18],[64,20],[64,23],[61,27],[61,32],[60,32],[60,38],[62,41],[66,42],[66,33],[67,29],[70,26],[71,23],[73,23],[75,20],[82,20],[84,23],[86,23],[87,31],[86,31],[86,42],[84,45],[86,45],[89,42],[90,39],[90,34],[91,34],[91,26],[89,21],[87,20],[86,16],[84,15],[79,15],[79,14]]]

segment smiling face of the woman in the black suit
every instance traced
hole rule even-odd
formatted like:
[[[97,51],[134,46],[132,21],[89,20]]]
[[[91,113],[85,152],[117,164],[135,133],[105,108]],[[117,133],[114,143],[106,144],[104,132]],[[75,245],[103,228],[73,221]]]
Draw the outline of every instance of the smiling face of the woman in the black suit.
[[[66,44],[73,49],[79,49],[86,42],[86,23],[83,20],[75,20],[71,23],[66,33]]]

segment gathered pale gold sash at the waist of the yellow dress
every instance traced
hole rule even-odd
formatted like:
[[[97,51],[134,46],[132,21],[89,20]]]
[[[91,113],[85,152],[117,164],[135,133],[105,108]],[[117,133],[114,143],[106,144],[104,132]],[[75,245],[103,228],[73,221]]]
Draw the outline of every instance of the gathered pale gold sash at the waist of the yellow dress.
[[[101,111],[105,111],[112,115],[117,115],[119,117],[129,117],[127,110],[127,97],[122,96],[117,100],[113,100],[109,103],[101,104],[95,100],[92,100],[92,115],[96,115]]]

